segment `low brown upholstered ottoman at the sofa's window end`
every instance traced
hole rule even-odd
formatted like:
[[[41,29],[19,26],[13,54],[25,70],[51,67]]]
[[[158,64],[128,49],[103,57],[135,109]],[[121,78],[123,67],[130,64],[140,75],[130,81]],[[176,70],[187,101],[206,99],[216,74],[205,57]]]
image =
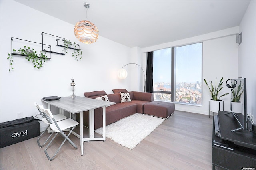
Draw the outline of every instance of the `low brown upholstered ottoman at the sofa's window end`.
[[[175,110],[174,103],[152,101],[144,105],[144,113],[157,117],[168,118]]]

